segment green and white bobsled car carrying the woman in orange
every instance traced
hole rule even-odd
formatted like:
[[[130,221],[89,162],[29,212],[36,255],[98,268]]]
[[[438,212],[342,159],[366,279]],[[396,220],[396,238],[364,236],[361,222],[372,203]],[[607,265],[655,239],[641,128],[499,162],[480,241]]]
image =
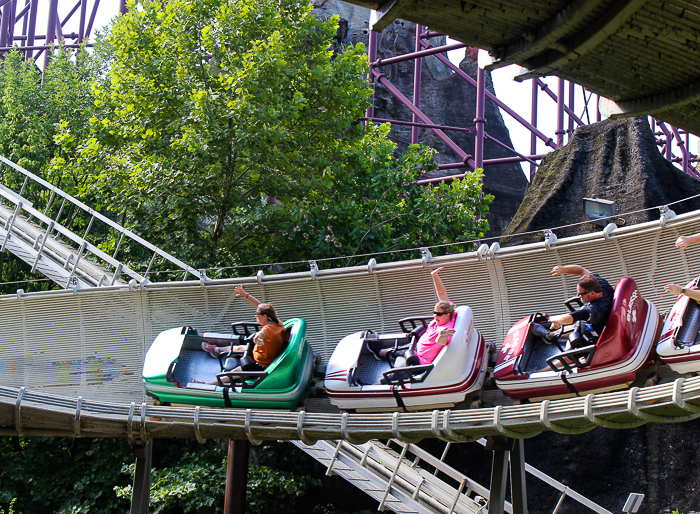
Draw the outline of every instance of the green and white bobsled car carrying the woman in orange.
[[[202,343],[224,350],[249,343],[252,351],[258,324],[232,323],[231,334],[200,334],[191,327],[165,330],[153,341],[143,364],[146,394],[163,403],[290,410],[309,393],[314,355],[306,342],[306,321],[295,318],[284,326],[289,342],[282,354],[264,371],[238,372],[230,371],[238,365],[236,354],[215,359],[202,350]],[[230,383],[222,382],[223,377]],[[214,381],[218,385],[208,384]]]

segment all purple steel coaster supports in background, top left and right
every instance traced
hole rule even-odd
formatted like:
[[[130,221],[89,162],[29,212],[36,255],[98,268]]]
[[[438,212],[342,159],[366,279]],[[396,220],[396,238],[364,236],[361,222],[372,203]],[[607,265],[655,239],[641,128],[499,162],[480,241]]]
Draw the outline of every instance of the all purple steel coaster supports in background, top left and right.
[[[114,0],[111,0],[112,2]],[[18,48],[24,52],[26,59],[33,58],[37,62],[43,54],[43,67],[46,68],[50,59],[50,50],[52,45],[61,43],[65,48],[78,48],[81,44],[90,44],[89,39],[95,23],[95,17],[100,8],[100,0],[42,0],[42,7],[39,7],[40,0],[0,0],[0,56],[13,48]],[[48,7],[47,7],[48,4]],[[63,16],[59,16],[59,4],[63,7]],[[66,11],[66,5],[68,10]],[[113,8],[114,4],[112,4]],[[125,13],[126,0],[118,0],[119,12]],[[42,16],[39,16],[39,15]],[[44,34],[37,32],[38,19],[46,20],[46,31]],[[75,25],[77,20],[77,31],[64,33],[64,28],[69,22]],[[43,23],[43,22],[42,22]],[[540,140],[545,146],[554,150],[565,143],[566,138],[570,138],[577,126],[586,124],[582,118],[584,114],[587,117],[587,122],[591,122],[589,113],[589,104],[592,103],[592,110],[595,113],[594,120],[600,121],[601,115],[598,110],[598,95],[583,90],[585,98],[584,110],[581,116],[577,116],[574,112],[575,90],[580,87],[574,83],[568,84],[568,101],[566,94],[567,81],[558,79],[557,92],[552,91],[549,86],[540,78],[532,80],[532,109],[530,119],[526,120],[513,109],[508,107],[505,102],[496,98],[495,95],[486,90],[485,72],[479,69],[476,80],[462,71],[458,66],[447,59],[445,52],[467,48],[461,43],[443,45],[440,47],[432,47],[429,39],[431,37],[441,36],[434,31],[426,30],[422,25],[416,26],[416,43],[413,52],[390,57],[387,59],[377,60],[377,33],[370,31],[368,54],[370,60],[370,81],[376,85],[381,84],[387,88],[403,105],[411,112],[411,121],[401,120],[386,120],[378,119],[374,116],[374,107],[367,110],[366,118],[375,122],[391,122],[394,124],[410,125],[411,142],[419,142],[419,130],[421,128],[432,130],[435,135],[440,138],[445,145],[452,150],[460,159],[460,162],[441,164],[440,169],[467,169],[470,170],[481,168],[484,166],[524,162],[529,164],[530,178],[534,176],[537,170],[537,162],[542,159],[545,154],[537,153],[537,141]],[[456,75],[467,81],[473,88],[476,95],[476,117],[474,118],[474,127],[449,127],[440,126],[431,121],[431,119],[420,108],[420,84],[421,84],[421,63],[423,58],[434,56],[443,65],[452,70]],[[383,66],[389,64],[406,62],[414,60],[414,80],[413,80],[413,98],[409,100],[403,95],[381,72]],[[556,102],[556,130],[554,138],[551,138],[543,133],[538,128],[538,105],[541,105],[540,98],[545,95],[545,100],[549,97]],[[511,100],[511,99],[508,99]],[[486,131],[485,124],[485,103],[487,101],[494,102],[501,112],[513,118],[517,123],[530,132],[530,153],[524,155],[517,152],[508,144],[497,141],[490,136]],[[540,120],[541,121],[541,120]],[[691,163],[698,162],[698,156],[692,154],[689,149],[690,135],[684,131],[672,127],[663,122],[657,122],[654,119],[650,121],[652,130],[656,136],[656,141],[661,148],[661,153],[671,162],[678,163],[682,166],[683,171],[695,178],[700,179],[698,173]],[[449,132],[461,131],[474,135],[474,155],[468,155],[460,146],[450,138]],[[500,157],[489,159],[484,155],[484,142],[492,141],[496,145],[506,149],[512,153],[512,157]],[[452,177],[423,180],[421,183],[431,183],[440,180],[452,180],[455,177],[463,175],[455,175]]]

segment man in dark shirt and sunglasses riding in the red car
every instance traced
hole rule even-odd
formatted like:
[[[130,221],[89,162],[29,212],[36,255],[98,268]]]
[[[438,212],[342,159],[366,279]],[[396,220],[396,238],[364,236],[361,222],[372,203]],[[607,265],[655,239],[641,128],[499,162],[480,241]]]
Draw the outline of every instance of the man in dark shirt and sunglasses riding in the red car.
[[[552,269],[553,276],[564,273],[581,277],[578,284],[576,284],[576,296],[581,298],[584,306],[577,311],[552,317],[548,323],[542,325],[533,323],[533,332],[552,341],[561,335],[564,325],[572,325],[577,321],[586,321],[600,334],[608,322],[610,310],[612,309],[614,293],[612,286],[597,273],[591,273],[583,266],[576,264],[554,266]],[[546,326],[547,324],[549,326]]]

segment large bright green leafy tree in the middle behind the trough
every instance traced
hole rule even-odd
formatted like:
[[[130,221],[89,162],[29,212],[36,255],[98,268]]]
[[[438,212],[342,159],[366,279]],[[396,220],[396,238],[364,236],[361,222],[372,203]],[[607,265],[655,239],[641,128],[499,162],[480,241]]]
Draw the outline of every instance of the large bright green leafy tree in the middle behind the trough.
[[[337,18],[310,11],[171,0],[117,19],[74,163],[85,191],[197,267],[478,237],[490,200],[478,180],[413,184],[430,154],[397,157],[385,128],[356,123],[364,48],[334,54]]]

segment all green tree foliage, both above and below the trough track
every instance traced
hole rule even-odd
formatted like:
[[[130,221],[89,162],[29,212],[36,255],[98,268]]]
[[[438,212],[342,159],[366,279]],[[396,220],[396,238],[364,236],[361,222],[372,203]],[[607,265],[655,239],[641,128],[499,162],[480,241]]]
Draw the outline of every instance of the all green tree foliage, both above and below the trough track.
[[[1,155],[193,267],[225,268],[214,277],[250,274],[236,266],[255,263],[416,257],[385,252],[435,244],[445,245],[436,254],[464,251],[487,230],[491,198],[479,171],[417,186],[435,167],[431,152],[399,155],[388,126],[357,122],[371,95],[368,63],[361,45],[332,49],[337,18],[317,20],[297,0],[130,5],[92,53],[56,49],[43,79],[32,60],[5,57]],[[0,170],[15,191],[21,180]],[[47,191],[30,184],[23,196],[56,214]],[[82,233],[88,219],[68,209],[60,222]],[[107,252],[118,241],[104,228],[89,239]],[[150,255],[125,244],[120,258],[143,269]],[[0,255],[0,277],[3,293],[54,287],[10,255]],[[155,445],[154,512],[219,511],[225,448]],[[1,438],[0,456],[2,514],[128,508],[133,457],[124,441]],[[376,508],[318,476],[290,445],[255,450],[248,509]]]

